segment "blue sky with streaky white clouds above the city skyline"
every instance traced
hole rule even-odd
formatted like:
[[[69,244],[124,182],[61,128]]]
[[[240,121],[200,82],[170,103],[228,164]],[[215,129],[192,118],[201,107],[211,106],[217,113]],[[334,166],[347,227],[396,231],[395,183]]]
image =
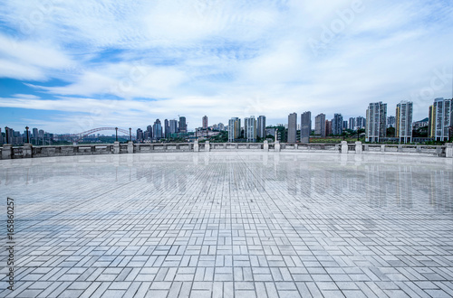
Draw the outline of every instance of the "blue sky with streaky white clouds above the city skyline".
[[[285,124],[401,100],[416,121],[452,97],[451,28],[451,0],[3,0],[0,127]]]

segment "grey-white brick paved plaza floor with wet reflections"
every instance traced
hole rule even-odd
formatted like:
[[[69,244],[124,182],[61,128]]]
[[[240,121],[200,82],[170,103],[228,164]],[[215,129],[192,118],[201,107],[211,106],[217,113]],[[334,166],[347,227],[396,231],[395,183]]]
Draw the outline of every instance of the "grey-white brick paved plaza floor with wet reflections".
[[[3,249],[0,296],[453,296],[452,162],[258,152],[0,161],[16,265],[11,292]]]

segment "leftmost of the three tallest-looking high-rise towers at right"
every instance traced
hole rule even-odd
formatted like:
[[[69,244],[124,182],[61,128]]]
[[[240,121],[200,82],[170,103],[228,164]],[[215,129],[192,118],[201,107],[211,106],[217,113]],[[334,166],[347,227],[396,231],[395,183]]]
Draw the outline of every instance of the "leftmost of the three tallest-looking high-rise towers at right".
[[[379,142],[387,135],[387,104],[371,103],[367,108],[365,141]]]

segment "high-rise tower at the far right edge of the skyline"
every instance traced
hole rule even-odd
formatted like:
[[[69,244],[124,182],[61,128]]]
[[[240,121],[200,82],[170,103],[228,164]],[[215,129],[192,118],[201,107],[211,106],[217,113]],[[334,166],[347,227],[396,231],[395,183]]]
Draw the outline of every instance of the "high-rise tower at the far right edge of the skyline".
[[[450,126],[453,126],[453,99],[434,99],[429,107],[429,136],[436,141],[448,141]]]

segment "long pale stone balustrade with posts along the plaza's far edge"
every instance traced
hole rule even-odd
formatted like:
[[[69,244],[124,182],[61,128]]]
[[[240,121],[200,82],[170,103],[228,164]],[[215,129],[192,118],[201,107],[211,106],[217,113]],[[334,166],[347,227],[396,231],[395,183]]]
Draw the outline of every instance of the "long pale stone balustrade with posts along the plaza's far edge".
[[[0,147],[1,159],[72,156],[91,154],[146,154],[159,152],[217,152],[252,150],[262,152],[314,152],[338,154],[423,154],[453,158],[453,144],[289,144],[280,143],[156,143],[156,144],[76,144],[76,145],[47,145],[13,146],[4,144]]]

